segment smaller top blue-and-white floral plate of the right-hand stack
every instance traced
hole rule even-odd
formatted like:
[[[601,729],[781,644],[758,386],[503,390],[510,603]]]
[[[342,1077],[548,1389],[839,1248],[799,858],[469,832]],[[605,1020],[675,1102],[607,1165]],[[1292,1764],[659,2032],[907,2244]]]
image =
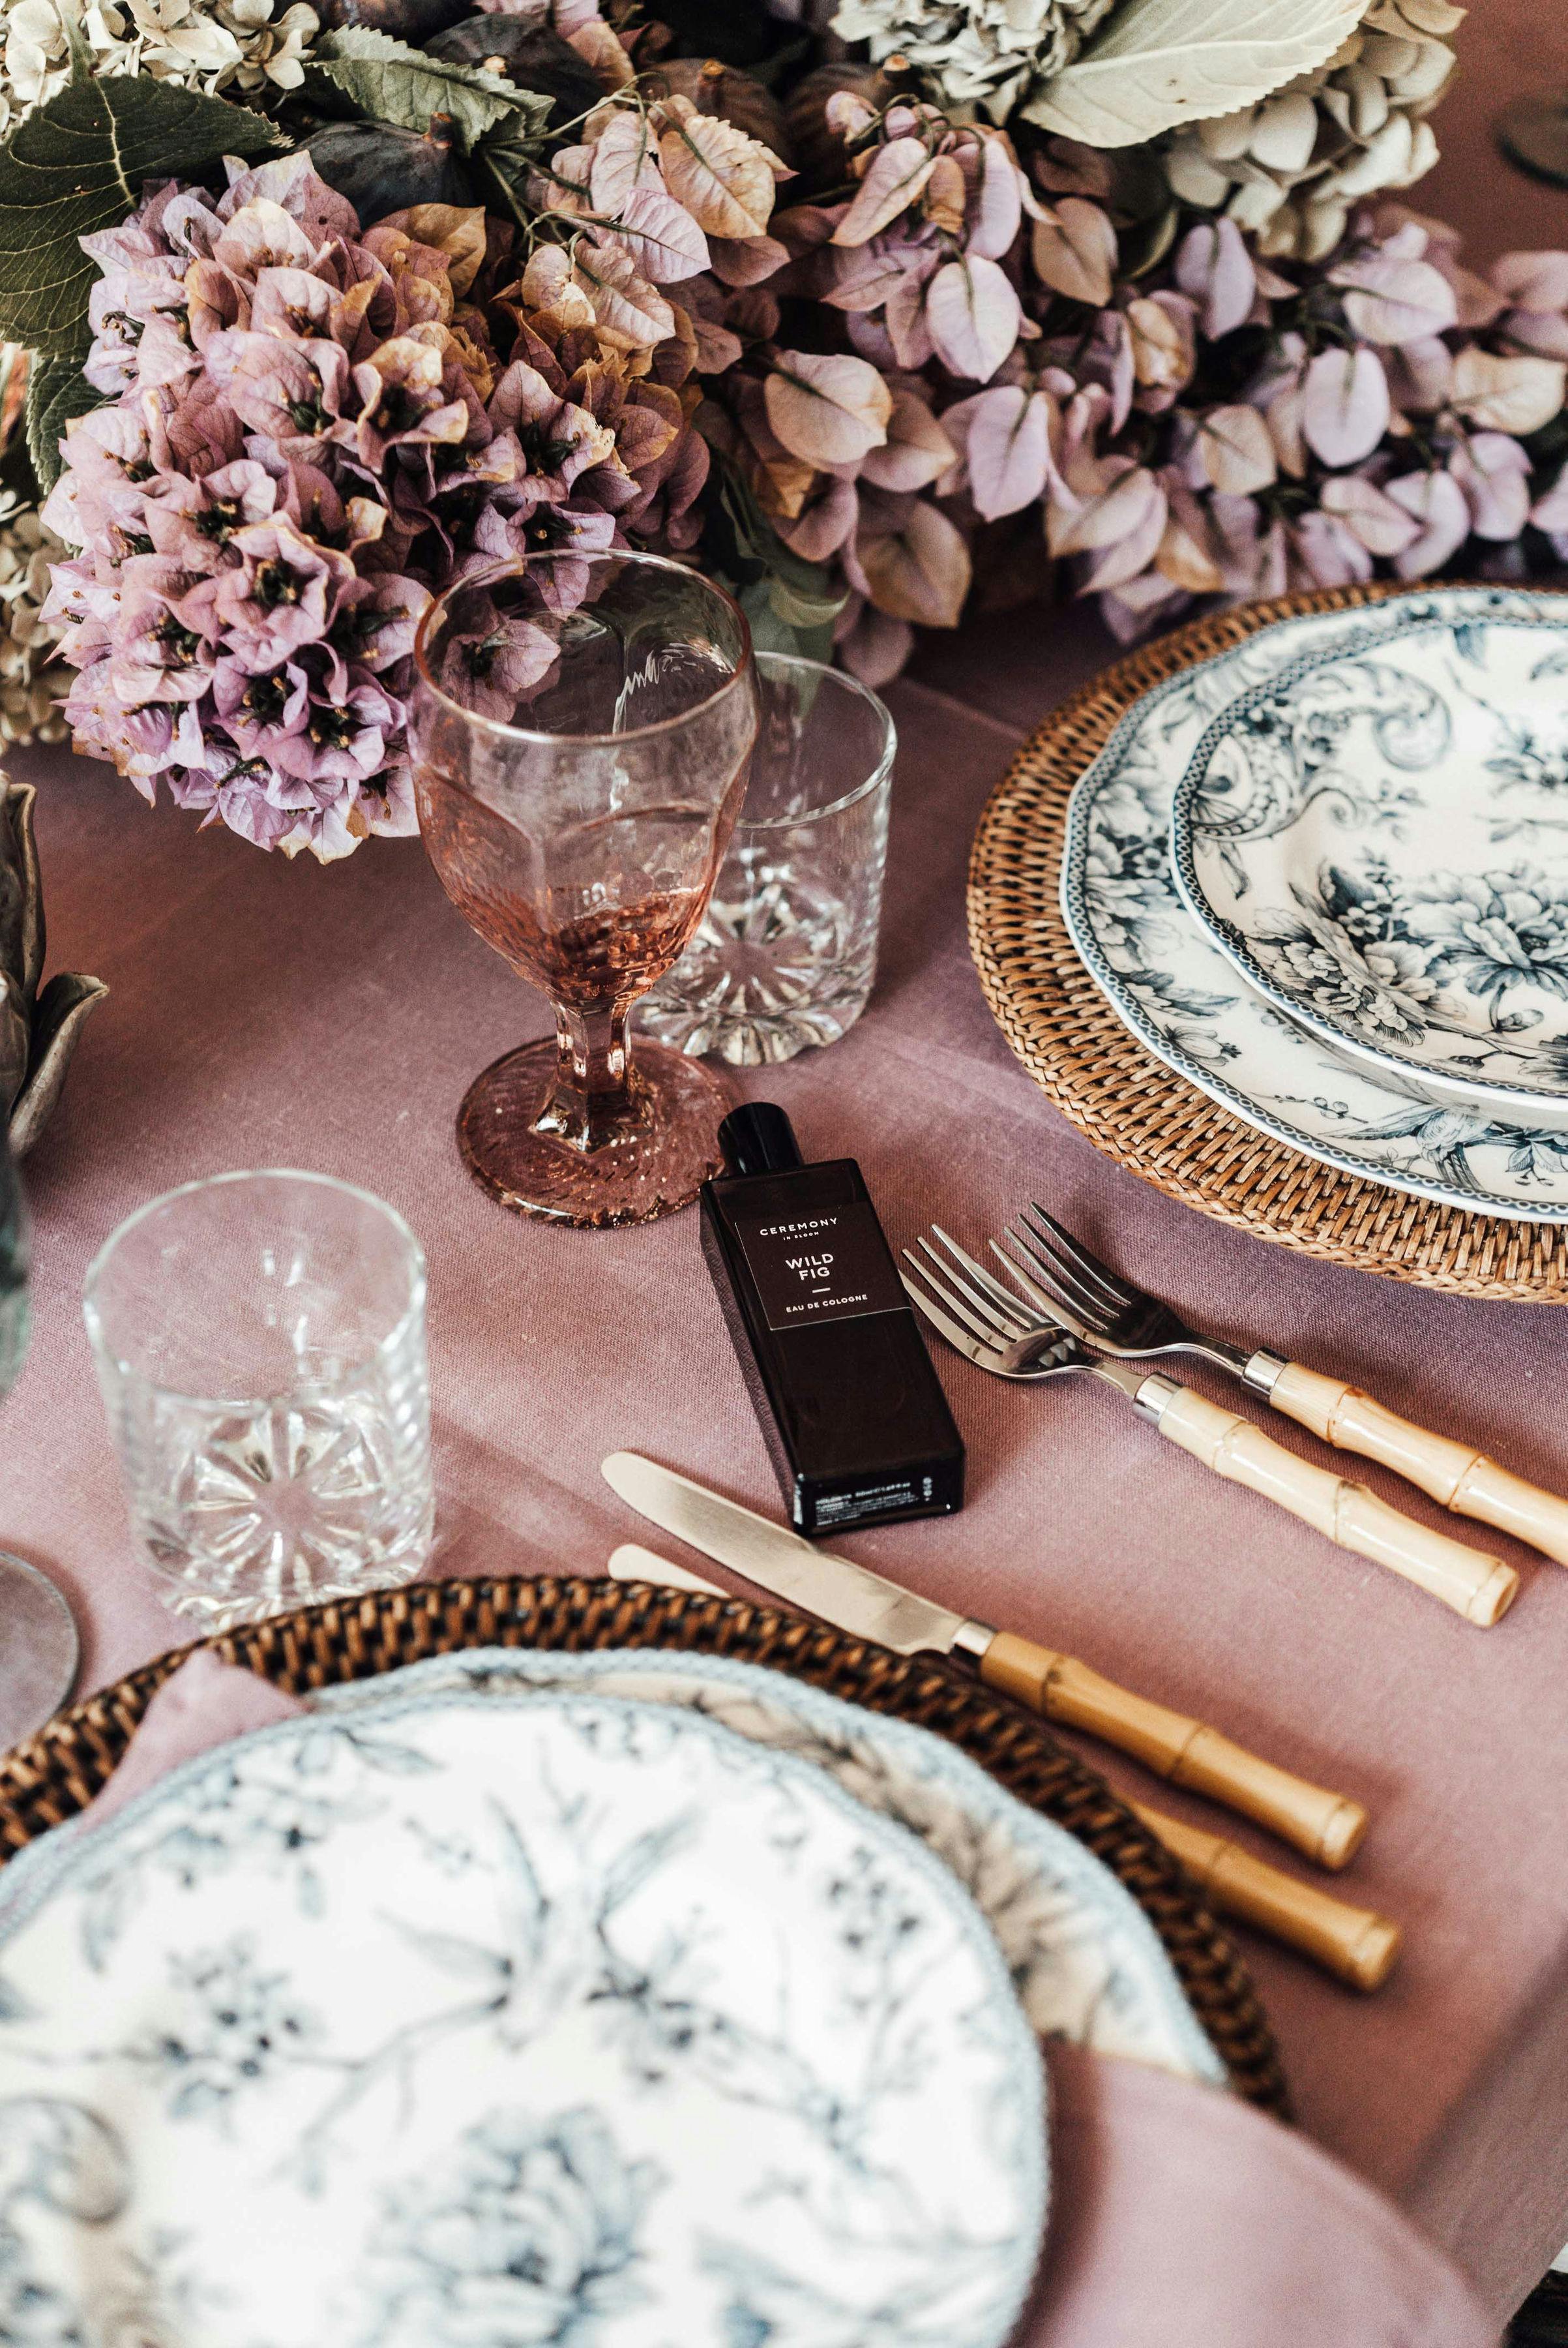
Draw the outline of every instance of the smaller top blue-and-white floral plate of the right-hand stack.
[[[1568,1129],[1568,613],[1422,592],[1211,718],[1171,869],[1246,981],[1437,1101]]]

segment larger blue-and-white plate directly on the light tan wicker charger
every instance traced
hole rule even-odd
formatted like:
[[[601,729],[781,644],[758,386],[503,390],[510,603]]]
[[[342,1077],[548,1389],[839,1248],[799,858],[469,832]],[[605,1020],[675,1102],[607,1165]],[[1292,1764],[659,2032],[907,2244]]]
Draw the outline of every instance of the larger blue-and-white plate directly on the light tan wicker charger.
[[[1127,711],[1068,810],[1061,909],[1122,1024],[1232,1115],[1322,1165],[1444,1207],[1568,1223],[1568,1134],[1481,1106],[1439,1104],[1415,1075],[1376,1073],[1286,1019],[1176,888],[1171,808],[1209,723],[1282,669],[1422,620],[1530,620],[1559,608],[1516,589],[1427,589],[1352,613],[1305,613],[1183,669]]]

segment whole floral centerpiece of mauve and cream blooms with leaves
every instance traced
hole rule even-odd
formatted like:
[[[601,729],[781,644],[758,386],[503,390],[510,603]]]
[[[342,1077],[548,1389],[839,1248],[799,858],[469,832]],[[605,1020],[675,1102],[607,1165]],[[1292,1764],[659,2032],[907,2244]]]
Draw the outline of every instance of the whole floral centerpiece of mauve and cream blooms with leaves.
[[[1404,202],[1460,14],[16,0],[0,599],[73,552],[0,723],[59,641],[77,747],[338,857],[413,826],[425,601],[528,547],[871,683],[1047,582],[1129,639],[1556,564],[1568,256]]]

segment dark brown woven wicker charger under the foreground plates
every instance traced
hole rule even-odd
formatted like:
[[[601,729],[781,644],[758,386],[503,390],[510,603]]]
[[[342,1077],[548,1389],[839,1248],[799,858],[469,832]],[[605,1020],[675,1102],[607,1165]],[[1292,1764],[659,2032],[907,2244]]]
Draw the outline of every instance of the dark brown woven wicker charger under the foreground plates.
[[[1289,2116],[1279,2054],[1246,1968],[1176,1860],[1106,1780],[1030,1714],[932,1662],[892,1655],[742,1599],[648,1583],[554,1578],[415,1583],[354,1604],[303,1606],[202,1644],[296,1695],[343,1679],[373,1679],[465,1646],[573,1653],[638,1646],[737,1655],[807,1679],[869,1712],[932,1728],[1021,1801],[1068,1827],[1120,1876],[1160,1932],[1235,2090],[1263,2111]],[[0,1862],[47,1827],[75,1817],[108,1784],[153,1693],[188,1653],[178,1648],[129,1672],[0,1756]]]

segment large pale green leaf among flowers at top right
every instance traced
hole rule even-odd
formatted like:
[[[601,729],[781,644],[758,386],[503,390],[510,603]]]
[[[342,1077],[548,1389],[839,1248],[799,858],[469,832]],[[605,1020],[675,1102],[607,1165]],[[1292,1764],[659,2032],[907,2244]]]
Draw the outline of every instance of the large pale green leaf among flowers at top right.
[[[1366,0],[1127,0],[1023,117],[1084,146],[1138,146],[1256,106],[1324,66],[1364,14]]]

